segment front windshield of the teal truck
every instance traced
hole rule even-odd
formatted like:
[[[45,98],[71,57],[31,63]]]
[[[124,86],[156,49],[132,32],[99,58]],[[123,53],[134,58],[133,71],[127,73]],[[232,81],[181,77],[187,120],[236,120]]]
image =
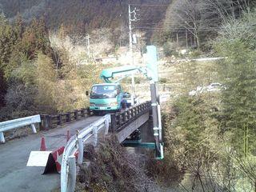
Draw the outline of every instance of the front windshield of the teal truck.
[[[90,92],[91,97],[113,98],[118,94],[118,86],[93,86]]]

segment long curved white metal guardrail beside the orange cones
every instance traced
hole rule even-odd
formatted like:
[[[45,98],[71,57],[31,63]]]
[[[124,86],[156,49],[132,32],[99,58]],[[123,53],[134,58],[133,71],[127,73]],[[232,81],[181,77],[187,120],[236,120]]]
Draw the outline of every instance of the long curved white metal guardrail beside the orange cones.
[[[70,192],[74,191],[76,182],[76,159],[74,154],[78,151],[78,164],[82,164],[84,143],[90,138],[94,137],[93,145],[97,146],[98,143],[98,130],[105,128],[105,135],[108,134],[110,124],[110,114],[98,119],[98,121],[86,126],[75,134],[67,142],[63,158],[61,170],[61,191]]]

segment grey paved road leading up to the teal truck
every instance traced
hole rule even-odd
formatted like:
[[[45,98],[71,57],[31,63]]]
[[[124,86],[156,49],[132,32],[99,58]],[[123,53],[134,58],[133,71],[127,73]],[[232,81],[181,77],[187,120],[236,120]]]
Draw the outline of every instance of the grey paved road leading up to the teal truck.
[[[76,130],[89,126],[101,116],[93,116],[70,122],[54,130],[40,131],[25,138],[7,141],[0,145],[0,192],[50,192],[60,186],[60,174],[42,175],[42,167],[27,167],[31,150],[39,150],[41,138],[46,138],[46,149],[55,150],[66,145],[66,131],[71,136]]]

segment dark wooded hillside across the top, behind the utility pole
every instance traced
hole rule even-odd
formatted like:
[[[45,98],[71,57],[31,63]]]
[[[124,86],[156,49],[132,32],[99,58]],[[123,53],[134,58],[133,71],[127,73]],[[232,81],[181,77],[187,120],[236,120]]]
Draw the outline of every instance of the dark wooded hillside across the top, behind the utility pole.
[[[66,26],[74,33],[86,33],[96,28],[114,29],[127,26],[128,3],[120,0],[1,0],[0,10],[13,20],[16,14],[30,21],[32,18],[46,18],[47,26],[56,29]],[[165,17],[170,0],[134,0],[132,4],[139,9],[138,27],[157,26]],[[149,6],[154,5],[154,6]],[[132,6],[132,8],[134,7]]]

